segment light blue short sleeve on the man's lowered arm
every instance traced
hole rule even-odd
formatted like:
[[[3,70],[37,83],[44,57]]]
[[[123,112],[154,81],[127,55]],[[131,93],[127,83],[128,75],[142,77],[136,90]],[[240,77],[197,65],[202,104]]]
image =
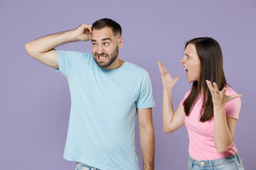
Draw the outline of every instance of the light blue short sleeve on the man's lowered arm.
[[[148,73],[142,81],[136,106],[137,108],[152,108],[155,106],[151,81]]]

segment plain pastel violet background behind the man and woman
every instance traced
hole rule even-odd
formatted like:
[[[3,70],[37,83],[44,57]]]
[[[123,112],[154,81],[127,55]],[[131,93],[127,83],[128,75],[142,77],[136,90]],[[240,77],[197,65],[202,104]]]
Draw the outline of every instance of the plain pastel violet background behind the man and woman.
[[[187,169],[188,135],[183,127],[165,134],[161,124],[162,86],[156,61],[173,77],[174,108],[190,88],[180,60],[186,40],[209,36],[223,50],[228,83],[242,94],[235,146],[245,169],[255,165],[255,0],[105,1],[0,0],[0,169],[75,169],[63,159],[70,94],[65,77],[26,54],[26,42],[43,35],[113,18],[123,29],[120,58],[151,76],[156,107],[155,169]],[[90,42],[58,49],[91,52]],[[137,153],[142,167],[139,133]]]

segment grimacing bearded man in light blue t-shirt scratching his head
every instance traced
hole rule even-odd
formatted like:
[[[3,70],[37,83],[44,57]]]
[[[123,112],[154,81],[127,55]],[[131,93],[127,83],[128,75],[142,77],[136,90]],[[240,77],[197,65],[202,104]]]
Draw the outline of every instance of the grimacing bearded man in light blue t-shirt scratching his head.
[[[89,40],[92,54],[54,49]],[[154,169],[151,81],[144,69],[119,60],[122,45],[122,28],[109,18],[26,44],[28,55],[68,79],[71,111],[64,158],[78,162],[77,169],[139,169],[136,112],[144,169]]]

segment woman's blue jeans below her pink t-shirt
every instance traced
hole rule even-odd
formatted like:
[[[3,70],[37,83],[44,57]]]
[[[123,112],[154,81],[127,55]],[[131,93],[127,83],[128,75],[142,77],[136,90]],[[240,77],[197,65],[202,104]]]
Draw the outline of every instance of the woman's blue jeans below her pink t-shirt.
[[[223,159],[196,161],[189,156],[188,170],[244,170],[242,161],[237,154]]]

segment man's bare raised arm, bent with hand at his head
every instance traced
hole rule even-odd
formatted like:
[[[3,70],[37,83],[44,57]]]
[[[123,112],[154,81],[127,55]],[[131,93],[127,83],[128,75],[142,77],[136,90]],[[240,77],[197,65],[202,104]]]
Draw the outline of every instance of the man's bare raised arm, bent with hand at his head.
[[[25,45],[26,52],[39,62],[58,69],[58,55],[54,47],[73,41],[91,40],[91,33],[91,26],[82,24],[75,30],[46,35],[42,38],[28,42]]]

